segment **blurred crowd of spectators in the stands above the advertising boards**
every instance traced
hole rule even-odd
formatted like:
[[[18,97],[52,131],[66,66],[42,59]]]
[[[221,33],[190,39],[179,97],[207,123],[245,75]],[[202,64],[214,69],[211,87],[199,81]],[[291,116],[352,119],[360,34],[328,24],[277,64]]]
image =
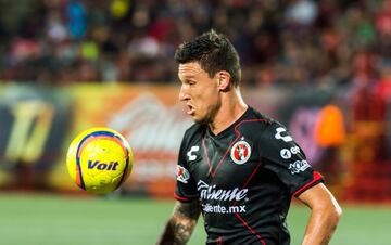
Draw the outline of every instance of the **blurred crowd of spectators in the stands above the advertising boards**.
[[[211,27],[248,86],[391,79],[391,0],[18,0],[0,1],[0,80],[175,82],[176,47]]]

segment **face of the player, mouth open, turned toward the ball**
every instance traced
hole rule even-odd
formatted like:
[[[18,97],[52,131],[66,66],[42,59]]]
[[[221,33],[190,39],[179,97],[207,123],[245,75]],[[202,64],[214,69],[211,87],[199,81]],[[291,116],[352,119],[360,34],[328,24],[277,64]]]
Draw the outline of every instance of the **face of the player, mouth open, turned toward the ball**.
[[[187,105],[187,114],[197,122],[213,121],[220,107],[217,76],[210,78],[199,63],[179,64],[178,77],[181,82],[179,100]]]

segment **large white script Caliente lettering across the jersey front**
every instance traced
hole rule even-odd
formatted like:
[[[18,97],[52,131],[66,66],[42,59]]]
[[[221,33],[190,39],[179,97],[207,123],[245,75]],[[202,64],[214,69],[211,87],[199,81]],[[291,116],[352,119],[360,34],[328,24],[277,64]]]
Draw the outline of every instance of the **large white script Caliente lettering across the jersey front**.
[[[217,189],[216,185],[209,185],[202,180],[197,183],[197,190],[200,193],[201,199],[211,201],[241,201],[245,198],[249,192],[249,189],[239,188],[231,190]]]

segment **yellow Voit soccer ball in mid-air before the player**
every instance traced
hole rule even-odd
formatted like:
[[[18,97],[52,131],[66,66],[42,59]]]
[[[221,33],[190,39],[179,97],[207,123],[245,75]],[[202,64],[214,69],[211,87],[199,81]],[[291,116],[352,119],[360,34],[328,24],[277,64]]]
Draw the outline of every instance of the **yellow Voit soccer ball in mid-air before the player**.
[[[73,181],[91,193],[106,194],[127,179],[133,152],[123,136],[110,128],[90,128],[71,143],[66,167]]]

